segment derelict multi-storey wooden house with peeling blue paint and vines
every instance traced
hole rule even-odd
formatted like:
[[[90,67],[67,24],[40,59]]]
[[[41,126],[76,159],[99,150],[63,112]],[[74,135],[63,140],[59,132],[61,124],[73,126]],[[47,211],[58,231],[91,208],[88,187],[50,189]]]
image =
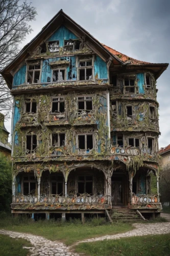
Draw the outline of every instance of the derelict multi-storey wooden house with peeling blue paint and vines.
[[[156,79],[167,66],[101,44],[60,10],[1,72],[14,97],[12,213],[159,215]]]

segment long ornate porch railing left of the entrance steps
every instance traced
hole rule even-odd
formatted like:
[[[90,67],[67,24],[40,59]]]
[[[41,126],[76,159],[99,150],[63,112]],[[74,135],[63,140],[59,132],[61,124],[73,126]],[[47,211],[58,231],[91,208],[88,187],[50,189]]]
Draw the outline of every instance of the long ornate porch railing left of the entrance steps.
[[[74,195],[74,196],[60,196],[60,195],[43,195],[40,196],[13,196],[13,203],[17,204],[107,204],[110,196],[89,196],[89,195]]]

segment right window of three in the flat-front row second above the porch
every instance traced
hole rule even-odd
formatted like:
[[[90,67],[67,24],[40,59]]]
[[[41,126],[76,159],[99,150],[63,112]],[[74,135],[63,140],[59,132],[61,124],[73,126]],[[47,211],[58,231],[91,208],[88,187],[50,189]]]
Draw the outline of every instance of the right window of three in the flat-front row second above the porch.
[[[89,113],[93,109],[92,97],[82,96],[78,97],[78,111],[79,113]]]

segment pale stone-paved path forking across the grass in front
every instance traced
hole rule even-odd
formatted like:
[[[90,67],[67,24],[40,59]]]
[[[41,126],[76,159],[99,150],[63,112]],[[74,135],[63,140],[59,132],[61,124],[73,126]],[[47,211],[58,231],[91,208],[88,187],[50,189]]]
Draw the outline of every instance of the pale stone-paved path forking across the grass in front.
[[[133,236],[134,237],[145,236],[148,234],[170,233],[170,215],[161,214],[161,217],[167,219],[168,222],[150,223],[150,224],[135,223],[135,224],[132,224],[135,227],[135,229],[128,231],[126,233],[119,233],[119,234],[114,234],[110,236],[102,236],[98,238],[90,238],[83,241],[79,241],[70,247],[66,246],[62,242],[47,240],[43,237],[34,236],[28,233],[19,233],[19,232],[4,230],[4,229],[0,229],[0,233],[6,234],[11,238],[23,238],[30,241],[33,247],[24,247],[24,248],[28,248],[30,250],[31,256],[34,256],[34,255],[79,256],[78,253],[71,252],[72,247],[74,247],[79,243],[102,241],[105,239],[120,239],[120,238],[133,237]]]

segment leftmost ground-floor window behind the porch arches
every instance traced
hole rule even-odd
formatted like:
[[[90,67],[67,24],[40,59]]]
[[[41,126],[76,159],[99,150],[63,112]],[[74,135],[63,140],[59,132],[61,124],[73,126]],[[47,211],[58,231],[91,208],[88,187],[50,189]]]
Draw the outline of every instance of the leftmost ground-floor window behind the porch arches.
[[[23,176],[22,179],[22,194],[24,196],[36,194],[36,180],[34,174]]]

